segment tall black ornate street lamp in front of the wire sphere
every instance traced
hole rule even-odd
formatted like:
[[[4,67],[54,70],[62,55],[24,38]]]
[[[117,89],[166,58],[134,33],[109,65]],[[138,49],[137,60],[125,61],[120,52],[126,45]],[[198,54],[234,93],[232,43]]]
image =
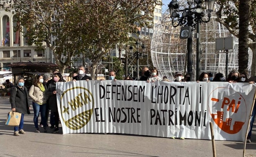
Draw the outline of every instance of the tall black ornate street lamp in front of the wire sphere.
[[[197,27],[197,79],[201,73],[201,46],[200,46],[200,24],[210,21],[215,0],[205,0],[207,20],[203,20],[205,14],[203,12],[202,0],[187,0],[188,7],[180,9],[177,0],[171,0],[168,5],[171,14],[171,24],[173,27],[181,27],[180,38],[187,39],[187,73],[193,76],[193,49],[192,49],[192,31]],[[181,14],[181,17],[180,17]]]

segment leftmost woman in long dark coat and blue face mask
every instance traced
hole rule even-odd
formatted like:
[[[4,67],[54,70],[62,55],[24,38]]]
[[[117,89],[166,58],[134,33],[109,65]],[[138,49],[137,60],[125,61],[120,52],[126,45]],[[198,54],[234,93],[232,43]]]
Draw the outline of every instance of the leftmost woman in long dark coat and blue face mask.
[[[19,126],[14,126],[14,136],[25,134],[23,130],[24,114],[30,114],[30,105],[28,104],[27,88],[24,86],[24,78],[18,77],[17,84],[11,87],[10,103],[13,112],[21,113],[21,121]],[[18,131],[19,130],[19,131]]]

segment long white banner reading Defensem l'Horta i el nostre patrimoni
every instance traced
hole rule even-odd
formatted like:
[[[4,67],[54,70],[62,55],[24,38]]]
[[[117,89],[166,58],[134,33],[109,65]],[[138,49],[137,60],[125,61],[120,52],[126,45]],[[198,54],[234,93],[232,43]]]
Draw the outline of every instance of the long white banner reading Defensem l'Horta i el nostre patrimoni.
[[[244,141],[256,86],[130,80],[57,82],[66,133],[126,133]]]

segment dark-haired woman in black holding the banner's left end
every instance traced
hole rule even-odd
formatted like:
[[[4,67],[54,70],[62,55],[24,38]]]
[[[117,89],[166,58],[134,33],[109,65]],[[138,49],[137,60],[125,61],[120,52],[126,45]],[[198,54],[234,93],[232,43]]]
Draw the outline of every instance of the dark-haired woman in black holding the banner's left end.
[[[51,110],[51,113],[54,115],[54,130],[52,133],[58,133],[59,132],[59,113],[58,113],[58,107],[57,107],[57,91],[56,91],[56,82],[66,82],[63,79],[63,76],[61,73],[55,73],[53,75],[54,82],[51,82],[48,86],[46,94],[49,96],[49,107]],[[51,126],[52,127],[52,126]]]

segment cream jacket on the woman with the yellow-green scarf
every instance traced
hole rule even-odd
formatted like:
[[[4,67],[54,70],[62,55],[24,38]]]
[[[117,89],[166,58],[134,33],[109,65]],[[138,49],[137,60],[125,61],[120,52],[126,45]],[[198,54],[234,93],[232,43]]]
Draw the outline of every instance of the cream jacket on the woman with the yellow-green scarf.
[[[46,95],[47,88],[44,86],[45,91],[42,92],[39,87],[32,85],[30,87],[28,95],[32,98],[32,101],[37,104],[46,104],[48,95]]]

